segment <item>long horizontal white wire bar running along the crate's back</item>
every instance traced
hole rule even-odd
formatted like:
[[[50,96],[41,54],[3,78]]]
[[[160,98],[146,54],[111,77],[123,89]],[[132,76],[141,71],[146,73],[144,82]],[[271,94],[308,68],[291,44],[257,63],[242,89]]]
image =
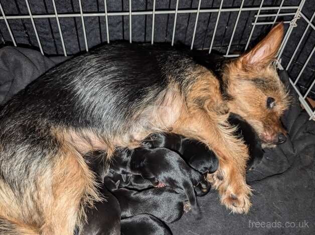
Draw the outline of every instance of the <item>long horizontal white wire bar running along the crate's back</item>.
[[[279,6],[264,6],[261,10],[276,10]],[[283,6],[281,9],[297,9],[298,6]],[[243,7],[242,11],[252,11],[258,10],[259,7]],[[222,12],[233,12],[239,11],[240,8],[222,8]],[[175,14],[176,10],[155,10],[155,14]],[[200,13],[209,13],[209,12],[218,12],[219,8],[207,8],[207,9],[200,9]],[[178,13],[197,13],[197,9],[182,9],[177,10]],[[153,14],[152,10],[146,11],[132,11],[131,15],[149,15]],[[93,12],[93,13],[83,13],[84,17],[91,17],[91,16],[105,16],[105,12]],[[119,11],[119,12],[107,12],[108,16],[123,16],[123,15],[130,15],[130,11]],[[80,17],[80,13],[63,13],[58,14],[59,18],[62,17]],[[7,19],[27,19],[30,18],[30,15],[7,15]],[[55,18],[55,14],[34,14],[32,15],[33,18]],[[0,19],[4,19],[3,16],[0,16]]]

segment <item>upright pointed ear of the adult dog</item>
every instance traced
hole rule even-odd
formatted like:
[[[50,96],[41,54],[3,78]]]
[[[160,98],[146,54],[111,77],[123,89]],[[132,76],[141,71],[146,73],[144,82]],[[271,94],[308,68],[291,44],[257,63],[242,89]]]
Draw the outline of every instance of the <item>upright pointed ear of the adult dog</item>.
[[[264,67],[269,65],[276,57],[283,33],[283,22],[280,22],[254,48],[240,56],[239,61],[242,63],[242,66]]]

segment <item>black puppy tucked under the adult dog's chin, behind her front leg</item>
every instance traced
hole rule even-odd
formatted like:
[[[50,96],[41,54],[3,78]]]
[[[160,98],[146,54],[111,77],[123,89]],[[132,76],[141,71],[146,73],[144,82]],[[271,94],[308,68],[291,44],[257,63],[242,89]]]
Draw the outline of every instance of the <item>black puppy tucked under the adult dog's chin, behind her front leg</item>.
[[[245,144],[248,146],[249,159],[247,161],[247,170],[254,169],[264,154],[259,136],[253,127],[237,114],[231,113],[228,121],[230,124],[238,127],[235,134],[242,136]]]

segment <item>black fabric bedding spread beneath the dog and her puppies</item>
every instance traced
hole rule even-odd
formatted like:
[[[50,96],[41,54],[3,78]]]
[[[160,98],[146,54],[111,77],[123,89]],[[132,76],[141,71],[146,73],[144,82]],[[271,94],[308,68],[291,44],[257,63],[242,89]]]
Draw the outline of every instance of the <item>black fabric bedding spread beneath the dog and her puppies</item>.
[[[0,105],[67,58],[48,58],[26,48],[1,48]],[[286,71],[279,74],[287,82]],[[266,149],[262,161],[247,175],[254,189],[250,212],[230,213],[214,191],[198,198],[201,220],[187,213],[168,224],[173,234],[315,234],[315,121],[308,120],[292,95],[292,106],[283,117],[290,139]]]

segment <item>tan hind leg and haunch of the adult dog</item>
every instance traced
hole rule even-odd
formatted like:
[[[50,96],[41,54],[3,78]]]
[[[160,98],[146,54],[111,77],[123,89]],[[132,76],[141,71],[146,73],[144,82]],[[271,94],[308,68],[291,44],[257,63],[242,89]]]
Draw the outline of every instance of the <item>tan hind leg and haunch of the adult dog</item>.
[[[0,179],[0,235],[72,235],[85,206],[100,200],[94,174],[69,146],[45,155],[37,169],[23,193]]]

